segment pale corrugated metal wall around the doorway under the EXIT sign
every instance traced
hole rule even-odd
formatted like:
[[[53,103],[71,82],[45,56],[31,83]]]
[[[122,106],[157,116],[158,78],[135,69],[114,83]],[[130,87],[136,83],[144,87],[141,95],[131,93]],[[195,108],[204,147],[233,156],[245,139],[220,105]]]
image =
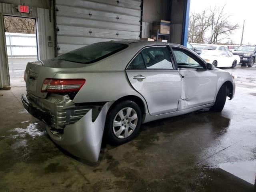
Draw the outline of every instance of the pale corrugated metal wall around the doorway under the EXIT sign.
[[[32,7],[30,14],[24,14],[18,13],[16,6],[14,4],[0,3],[0,88],[10,85],[3,15],[36,18],[39,59],[44,60],[54,57],[54,46],[48,46],[48,36],[51,36],[52,40],[54,39],[53,22],[50,22],[49,10]]]

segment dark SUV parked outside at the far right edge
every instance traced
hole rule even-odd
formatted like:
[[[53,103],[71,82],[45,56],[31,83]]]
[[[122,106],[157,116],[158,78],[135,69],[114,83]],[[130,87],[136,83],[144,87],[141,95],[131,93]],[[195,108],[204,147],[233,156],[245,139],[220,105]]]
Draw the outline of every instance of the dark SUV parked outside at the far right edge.
[[[248,67],[254,65],[256,58],[256,46],[240,46],[237,50],[234,50],[233,55],[240,57],[240,62]]]

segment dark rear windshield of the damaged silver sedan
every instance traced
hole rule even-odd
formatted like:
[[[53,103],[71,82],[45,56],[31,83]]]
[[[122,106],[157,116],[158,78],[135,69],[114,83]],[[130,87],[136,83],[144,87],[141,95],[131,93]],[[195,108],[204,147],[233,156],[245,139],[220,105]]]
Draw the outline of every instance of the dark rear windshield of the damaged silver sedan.
[[[89,64],[102,60],[126,47],[128,45],[114,42],[94,43],[60,55],[57,59]]]

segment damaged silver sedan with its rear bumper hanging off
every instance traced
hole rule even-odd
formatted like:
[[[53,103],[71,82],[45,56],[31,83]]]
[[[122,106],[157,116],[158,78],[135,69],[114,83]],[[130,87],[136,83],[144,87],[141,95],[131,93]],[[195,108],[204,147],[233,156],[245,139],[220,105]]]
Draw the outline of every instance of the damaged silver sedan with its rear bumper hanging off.
[[[26,110],[56,144],[91,162],[103,133],[123,144],[142,123],[206,107],[220,112],[235,93],[229,72],[184,46],[150,41],[100,42],[29,62],[24,79]]]

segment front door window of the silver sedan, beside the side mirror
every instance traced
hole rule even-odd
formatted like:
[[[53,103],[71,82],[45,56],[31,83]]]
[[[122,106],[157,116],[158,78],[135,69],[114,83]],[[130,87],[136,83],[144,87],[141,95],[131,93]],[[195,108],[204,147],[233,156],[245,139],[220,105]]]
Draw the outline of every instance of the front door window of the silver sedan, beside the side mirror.
[[[194,60],[186,51],[184,50],[173,50],[178,68],[196,68],[203,69],[203,67]]]

